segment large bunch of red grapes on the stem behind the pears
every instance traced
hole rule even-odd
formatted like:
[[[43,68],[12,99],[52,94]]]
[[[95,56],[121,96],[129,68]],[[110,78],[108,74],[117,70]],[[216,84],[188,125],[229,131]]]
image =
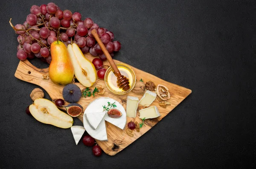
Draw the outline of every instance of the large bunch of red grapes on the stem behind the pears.
[[[30,12],[23,25],[17,24],[14,28],[19,34],[17,57],[20,60],[38,57],[44,62],[51,63],[50,46],[57,38],[66,46],[76,43],[83,53],[90,52],[93,56],[99,56],[102,61],[107,60],[91,34],[93,29],[96,29],[112,57],[113,52],[121,49],[121,43],[113,41],[113,32],[99,28],[90,18],[81,20],[79,12],[72,14],[70,10],[61,11],[55,3],[40,7],[33,5]]]

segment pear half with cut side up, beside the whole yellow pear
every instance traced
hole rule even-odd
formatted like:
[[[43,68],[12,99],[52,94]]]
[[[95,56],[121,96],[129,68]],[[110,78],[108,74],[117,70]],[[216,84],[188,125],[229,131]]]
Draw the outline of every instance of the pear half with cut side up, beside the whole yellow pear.
[[[85,87],[93,86],[96,81],[96,69],[90,60],[84,57],[80,48],[73,43],[67,46],[67,51],[75,70],[76,79]]]

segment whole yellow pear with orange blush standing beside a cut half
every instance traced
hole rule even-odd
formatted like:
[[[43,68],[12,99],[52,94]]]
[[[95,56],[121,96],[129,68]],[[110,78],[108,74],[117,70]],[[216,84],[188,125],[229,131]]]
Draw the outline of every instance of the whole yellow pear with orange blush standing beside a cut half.
[[[63,42],[57,40],[51,44],[51,56],[49,78],[58,85],[71,83],[74,77],[74,68]]]

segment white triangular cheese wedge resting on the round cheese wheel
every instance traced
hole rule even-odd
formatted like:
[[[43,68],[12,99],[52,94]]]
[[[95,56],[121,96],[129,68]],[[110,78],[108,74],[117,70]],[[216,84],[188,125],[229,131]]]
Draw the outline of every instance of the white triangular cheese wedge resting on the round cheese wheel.
[[[95,130],[99,126],[99,123],[102,121],[105,114],[106,112],[87,113],[85,114],[85,117],[90,126]]]

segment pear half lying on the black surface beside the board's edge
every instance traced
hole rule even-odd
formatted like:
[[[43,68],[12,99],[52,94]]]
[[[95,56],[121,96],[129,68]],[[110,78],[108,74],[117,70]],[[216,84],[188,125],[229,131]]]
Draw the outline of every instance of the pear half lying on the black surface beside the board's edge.
[[[64,129],[70,128],[73,125],[73,118],[61,112],[52,101],[47,99],[36,99],[29,106],[29,111],[41,123],[51,124]]]

